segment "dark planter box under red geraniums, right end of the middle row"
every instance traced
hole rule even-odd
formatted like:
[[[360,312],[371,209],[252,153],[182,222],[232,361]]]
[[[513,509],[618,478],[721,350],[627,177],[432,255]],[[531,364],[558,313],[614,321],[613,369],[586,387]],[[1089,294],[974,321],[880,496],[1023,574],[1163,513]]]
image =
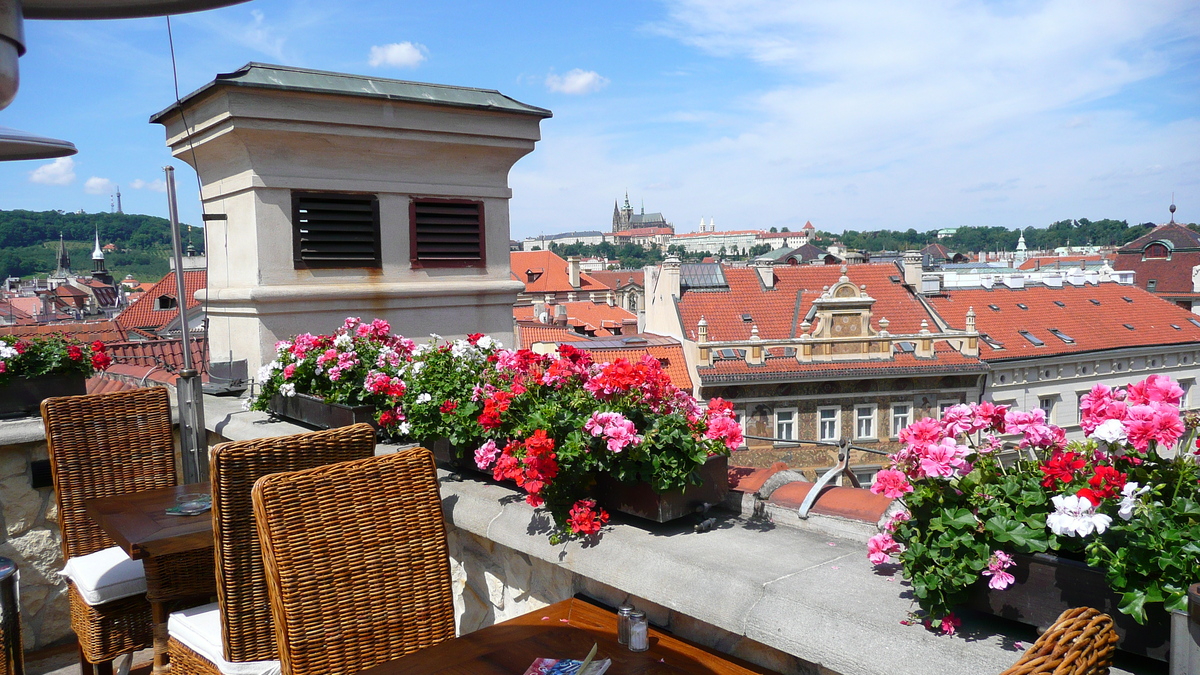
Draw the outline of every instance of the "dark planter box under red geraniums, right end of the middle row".
[[[730,491],[728,458],[708,458],[700,474],[702,484],[662,494],[655,492],[648,483],[622,483],[601,476],[596,482],[596,503],[610,510],[667,522],[696,513],[704,503],[720,503]]]

